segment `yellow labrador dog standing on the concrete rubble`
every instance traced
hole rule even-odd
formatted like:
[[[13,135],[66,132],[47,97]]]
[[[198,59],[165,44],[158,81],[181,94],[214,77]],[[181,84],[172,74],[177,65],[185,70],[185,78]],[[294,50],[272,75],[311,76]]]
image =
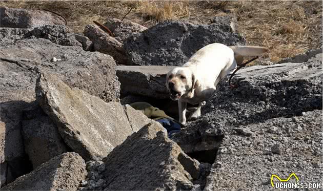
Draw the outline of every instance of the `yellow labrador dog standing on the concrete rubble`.
[[[167,73],[166,87],[173,100],[178,100],[179,122],[186,123],[187,103],[199,104],[189,117],[200,116],[201,106],[213,94],[216,84],[224,78],[244,56],[257,56],[267,52],[265,47],[210,44],[193,54],[181,67]]]

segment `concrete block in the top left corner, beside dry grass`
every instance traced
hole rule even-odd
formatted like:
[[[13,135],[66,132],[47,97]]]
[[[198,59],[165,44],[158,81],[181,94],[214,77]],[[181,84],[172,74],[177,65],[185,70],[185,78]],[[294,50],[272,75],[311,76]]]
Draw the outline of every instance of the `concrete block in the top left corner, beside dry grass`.
[[[0,8],[0,27],[35,28],[45,25],[65,25],[65,20],[45,10]]]

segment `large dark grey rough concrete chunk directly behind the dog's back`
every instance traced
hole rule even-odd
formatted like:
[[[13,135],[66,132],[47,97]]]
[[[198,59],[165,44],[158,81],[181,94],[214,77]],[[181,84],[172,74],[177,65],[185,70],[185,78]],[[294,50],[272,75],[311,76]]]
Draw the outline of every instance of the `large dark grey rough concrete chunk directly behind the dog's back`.
[[[230,24],[195,25],[171,20],[131,35],[124,47],[127,65],[181,66],[197,50],[212,43],[244,45],[245,39],[232,32]]]

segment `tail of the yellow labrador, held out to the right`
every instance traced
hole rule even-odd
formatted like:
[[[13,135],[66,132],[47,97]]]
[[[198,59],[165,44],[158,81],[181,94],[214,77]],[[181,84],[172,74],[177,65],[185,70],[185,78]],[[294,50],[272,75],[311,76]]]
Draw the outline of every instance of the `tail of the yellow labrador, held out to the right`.
[[[258,56],[268,52],[269,49],[266,47],[256,47],[256,46],[231,46],[234,52],[234,58],[237,65],[244,61],[244,56]]]

